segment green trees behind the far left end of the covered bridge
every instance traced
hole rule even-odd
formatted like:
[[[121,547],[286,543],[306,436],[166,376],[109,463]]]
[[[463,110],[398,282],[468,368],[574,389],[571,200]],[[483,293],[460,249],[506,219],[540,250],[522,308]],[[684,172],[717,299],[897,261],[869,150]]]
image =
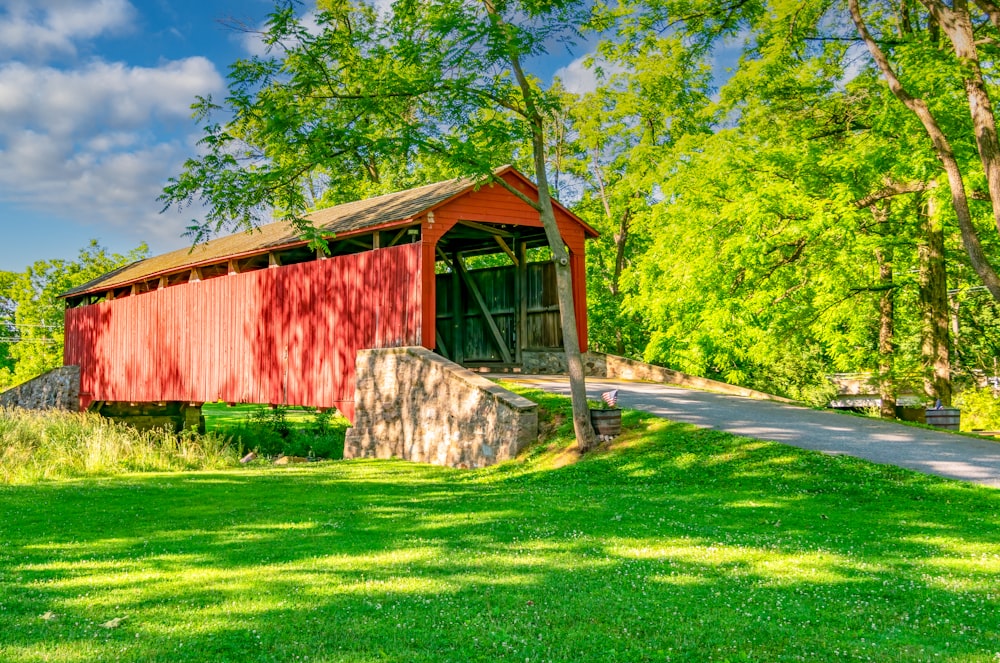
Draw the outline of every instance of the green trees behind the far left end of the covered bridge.
[[[145,244],[121,255],[109,253],[92,240],[74,261],[39,260],[24,272],[0,280],[0,324],[6,325],[2,333],[17,339],[6,345],[8,360],[0,366],[0,386],[19,384],[62,366],[64,304],[58,299],[60,294],[148,255]]]

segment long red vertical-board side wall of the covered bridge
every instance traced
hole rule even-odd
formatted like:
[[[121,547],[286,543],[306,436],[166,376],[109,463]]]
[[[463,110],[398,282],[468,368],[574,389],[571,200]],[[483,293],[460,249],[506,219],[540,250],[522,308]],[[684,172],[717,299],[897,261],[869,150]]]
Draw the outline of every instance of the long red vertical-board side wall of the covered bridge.
[[[69,309],[65,363],[80,365],[91,401],[284,403],[336,407],[353,421],[358,350],[420,343],[420,249],[408,244]]]

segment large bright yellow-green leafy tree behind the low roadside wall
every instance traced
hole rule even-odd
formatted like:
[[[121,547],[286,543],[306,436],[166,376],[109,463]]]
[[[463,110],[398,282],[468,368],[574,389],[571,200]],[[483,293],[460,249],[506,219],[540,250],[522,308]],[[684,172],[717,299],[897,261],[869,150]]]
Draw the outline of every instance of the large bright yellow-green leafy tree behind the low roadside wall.
[[[715,133],[660,169],[637,304],[653,312],[650,359],[800,396],[827,371],[869,369],[888,415],[896,374],[920,353],[905,341],[921,319],[911,201],[939,165],[876,70],[858,66],[845,17],[822,0],[633,7],[634,49],[663,26],[695,54],[746,36]]]

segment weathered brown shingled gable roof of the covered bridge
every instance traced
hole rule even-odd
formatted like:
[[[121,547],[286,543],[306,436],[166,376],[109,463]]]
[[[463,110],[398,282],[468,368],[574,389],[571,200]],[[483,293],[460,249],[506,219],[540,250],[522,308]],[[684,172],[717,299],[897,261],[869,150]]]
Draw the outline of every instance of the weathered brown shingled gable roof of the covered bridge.
[[[496,176],[507,173],[515,175],[531,188],[535,187],[531,180],[511,166],[504,166],[494,171]],[[323,233],[337,236],[405,226],[412,223],[416,217],[476,188],[478,186],[475,180],[459,177],[375,198],[335,205],[307,214],[305,218]],[[575,214],[555,201],[553,201],[553,205],[582,225],[588,235],[597,236],[597,231]],[[192,248],[178,249],[139,260],[67,290],[59,296],[65,298],[88,292],[109,290],[184,269],[210,265],[232,258],[260,255],[304,244],[306,242],[299,237],[290,223],[276,221],[251,231],[212,239]]]

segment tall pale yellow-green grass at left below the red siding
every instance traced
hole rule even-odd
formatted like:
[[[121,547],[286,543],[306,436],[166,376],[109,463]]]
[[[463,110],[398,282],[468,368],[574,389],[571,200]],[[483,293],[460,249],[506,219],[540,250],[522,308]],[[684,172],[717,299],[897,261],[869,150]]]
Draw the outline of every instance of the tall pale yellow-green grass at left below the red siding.
[[[139,432],[97,414],[0,409],[0,483],[222,468],[237,461],[238,450],[217,433]]]

